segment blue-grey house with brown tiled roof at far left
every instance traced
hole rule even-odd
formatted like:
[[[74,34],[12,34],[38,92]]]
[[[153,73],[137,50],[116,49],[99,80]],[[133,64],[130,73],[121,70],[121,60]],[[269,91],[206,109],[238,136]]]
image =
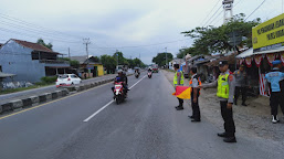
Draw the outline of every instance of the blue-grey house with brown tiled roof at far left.
[[[0,47],[0,67],[14,74],[14,81],[35,83],[41,77],[70,71],[70,63],[60,60],[60,56],[63,57],[63,54],[41,44],[11,39]]]

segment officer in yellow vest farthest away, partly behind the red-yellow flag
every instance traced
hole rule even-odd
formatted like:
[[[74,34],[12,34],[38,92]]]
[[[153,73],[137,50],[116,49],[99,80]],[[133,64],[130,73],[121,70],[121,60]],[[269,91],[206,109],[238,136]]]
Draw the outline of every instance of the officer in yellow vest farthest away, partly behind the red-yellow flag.
[[[176,88],[176,86],[178,85],[183,85],[183,73],[179,70],[179,64],[175,64],[173,68],[176,71],[175,77],[173,77],[173,86]],[[177,110],[182,110],[183,109],[183,99],[178,98],[179,100],[179,105],[176,106]]]

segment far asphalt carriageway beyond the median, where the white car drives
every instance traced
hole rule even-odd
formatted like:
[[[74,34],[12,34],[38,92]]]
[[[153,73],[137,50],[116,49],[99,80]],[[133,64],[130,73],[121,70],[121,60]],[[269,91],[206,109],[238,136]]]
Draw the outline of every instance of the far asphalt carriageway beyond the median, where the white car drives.
[[[116,76],[116,74],[99,76],[99,77],[95,77],[95,78],[88,78],[88,80],[82,81],[82,83],[90,83],[90,82],[99,81],[99,80],[109,78],[109,77],[115,77],[115,76]],[[24,96],[24,95],[33,95],[33,94],[43,93],[43,92],[52,92],[52,91],[56,91],[56,89],[59,89],[59,88],[56,88],[56,86],[54,84],[54,85],[51,85],[51,86],[44,86],[44,87],[40,87],[40,88],[33,88],[33,89],[28,89],[28,91],[23,91],[23,92],[17,92],[17,93],[11,93],[11,94],[0,95],[0,100],[17,98],[17,97],[21,97],[21,96]]]

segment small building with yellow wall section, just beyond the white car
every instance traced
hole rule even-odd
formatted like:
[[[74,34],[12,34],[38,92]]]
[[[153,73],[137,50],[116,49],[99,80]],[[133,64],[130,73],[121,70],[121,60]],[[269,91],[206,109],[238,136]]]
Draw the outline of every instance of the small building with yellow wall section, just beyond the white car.
[[[71,60],[78,61],[81,77],[96,77],[104,75],[104,66],[98,59],[90,55],[71,56]]]

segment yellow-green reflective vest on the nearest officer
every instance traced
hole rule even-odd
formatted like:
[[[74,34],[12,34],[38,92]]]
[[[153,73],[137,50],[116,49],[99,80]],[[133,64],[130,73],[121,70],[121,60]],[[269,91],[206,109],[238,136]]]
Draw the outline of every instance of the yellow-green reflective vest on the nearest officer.
[[[218,77],[218,91],[217,91],[217,96],[221,98],[229,98],[229,74],[225,75],[219,75]]]

